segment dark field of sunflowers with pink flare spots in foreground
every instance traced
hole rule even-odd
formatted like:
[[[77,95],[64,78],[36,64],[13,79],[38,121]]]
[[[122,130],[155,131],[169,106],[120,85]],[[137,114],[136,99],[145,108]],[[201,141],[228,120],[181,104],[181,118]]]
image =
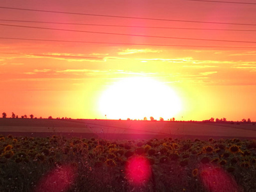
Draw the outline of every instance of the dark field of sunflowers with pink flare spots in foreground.
[[[255,140],[0,136],[0,191],[256,191]]]

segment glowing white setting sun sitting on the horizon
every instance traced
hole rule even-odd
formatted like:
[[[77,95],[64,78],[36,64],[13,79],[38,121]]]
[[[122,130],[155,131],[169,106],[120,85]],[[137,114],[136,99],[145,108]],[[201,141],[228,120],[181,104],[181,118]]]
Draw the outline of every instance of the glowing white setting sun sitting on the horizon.
[[[130,77],[111,85],[99,100],[99,111],[109,119],[172,118],[182,109],[170,86],[149,77]]]

